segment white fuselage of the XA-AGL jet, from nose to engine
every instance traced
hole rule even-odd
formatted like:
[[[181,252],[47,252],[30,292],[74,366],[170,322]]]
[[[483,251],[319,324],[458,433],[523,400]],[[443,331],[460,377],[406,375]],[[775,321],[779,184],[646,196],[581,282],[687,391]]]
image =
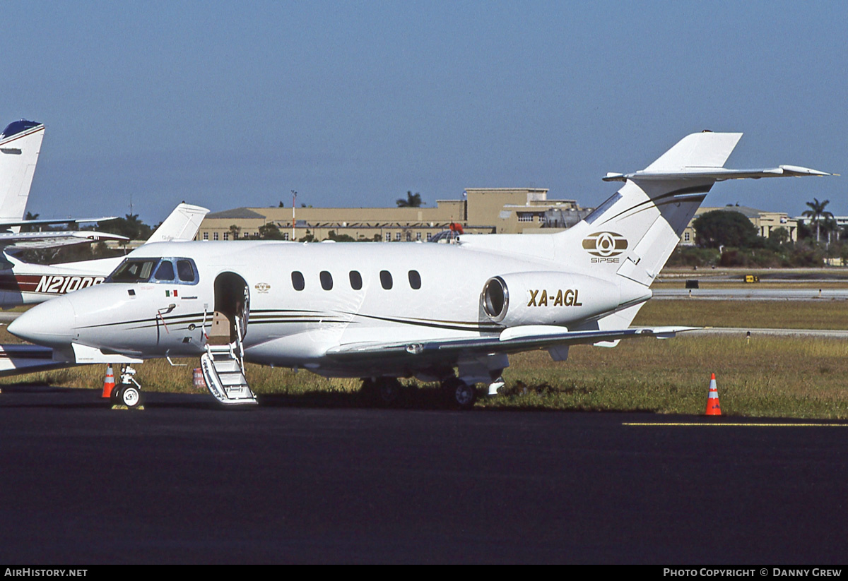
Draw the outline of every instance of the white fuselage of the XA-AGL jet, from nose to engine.
[[[58,350],[75,342],[139,358],[197,356],[213,312],[222,308],[215,280],[234,274],[249,293],[245,359],[355,376],[368,365],[339,367],[326,351],[367,341],[479,337],[520,324],[571,327],[650,297],[642,285],[622,291],[550,260],[453,244],[181,242],[143,246],[127,258],[140,257],[191,257],[197,282],[83,289],[37,307],[43,333],[29,321],[29,338]],[[327,274],[332,288],[325,288]],[[510,285],[505,318],[482,305],[492,277]]]

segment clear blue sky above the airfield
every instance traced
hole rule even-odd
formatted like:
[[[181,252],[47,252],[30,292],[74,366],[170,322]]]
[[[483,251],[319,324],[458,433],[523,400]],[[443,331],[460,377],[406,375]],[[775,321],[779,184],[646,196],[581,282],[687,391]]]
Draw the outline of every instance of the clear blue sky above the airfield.
[[[607,171],[743,131],[728,167],[848,174],[848,3],[5,2],[0,125],[47,124],[29,209],[164,219],[428,205],[465,187],[594,206]],[[848,175],[706,205],[848,214]]]

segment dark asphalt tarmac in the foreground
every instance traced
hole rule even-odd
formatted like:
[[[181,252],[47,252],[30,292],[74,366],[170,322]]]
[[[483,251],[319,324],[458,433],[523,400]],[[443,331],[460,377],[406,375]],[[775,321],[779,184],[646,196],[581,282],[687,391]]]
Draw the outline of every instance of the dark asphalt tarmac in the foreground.
[[[0,562],[848,560],[848,423],[98,396],[3,388]]]

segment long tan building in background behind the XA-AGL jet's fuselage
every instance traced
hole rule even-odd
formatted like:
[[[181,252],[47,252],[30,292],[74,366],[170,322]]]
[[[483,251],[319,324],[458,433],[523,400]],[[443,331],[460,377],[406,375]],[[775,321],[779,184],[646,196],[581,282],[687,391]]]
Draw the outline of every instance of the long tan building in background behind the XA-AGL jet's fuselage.
[[[283,240],[429,241],[451,224],[470,234],[530,234],[577,224],[591,209],[549,200],[544,188],[466,188],[461,199],[438,200],[435,208],[234,208],[207,214],[197,239],[259,238],[267,224]]]

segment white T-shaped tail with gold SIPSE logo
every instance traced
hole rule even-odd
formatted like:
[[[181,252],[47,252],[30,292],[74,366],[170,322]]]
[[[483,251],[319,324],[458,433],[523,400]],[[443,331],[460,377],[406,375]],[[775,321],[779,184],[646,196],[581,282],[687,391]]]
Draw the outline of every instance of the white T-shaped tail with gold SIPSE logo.
[[[788,165],[725,169],[724,163],[741,136],[694,133],[641,171],[607,174],[605,181],[622,181],[624,185],[583,222],[556,235],[557,256],[601,278],[623,277],[650,286],[717,181],[830,175]],[[620,319],[626,313],[632,321],[638,311],[639,305],[615,316]],[[616,319],[616,324],[622,321]],[[600,325],[604,329],[603,319]]]

